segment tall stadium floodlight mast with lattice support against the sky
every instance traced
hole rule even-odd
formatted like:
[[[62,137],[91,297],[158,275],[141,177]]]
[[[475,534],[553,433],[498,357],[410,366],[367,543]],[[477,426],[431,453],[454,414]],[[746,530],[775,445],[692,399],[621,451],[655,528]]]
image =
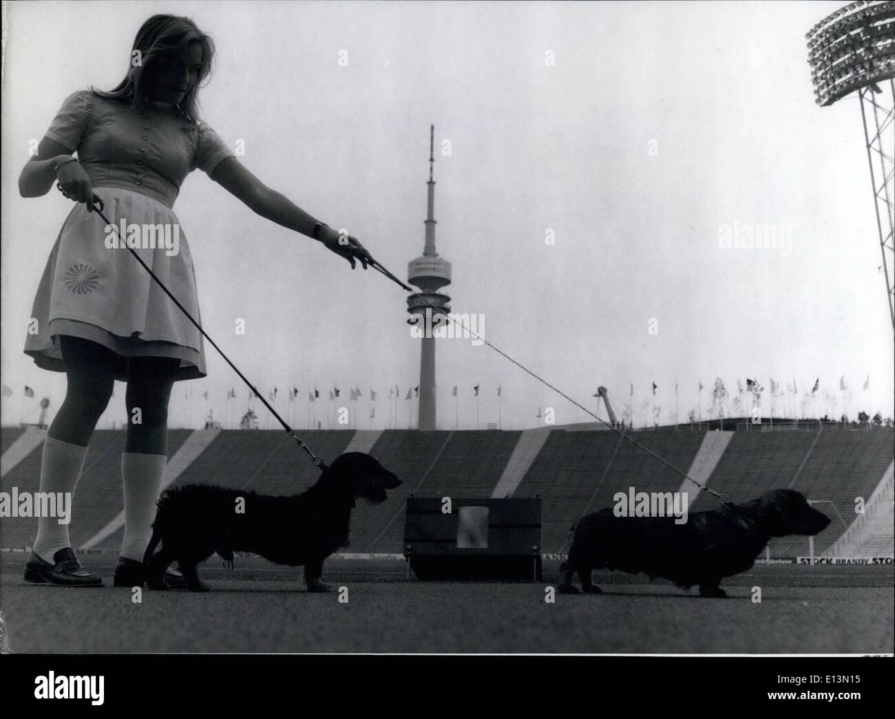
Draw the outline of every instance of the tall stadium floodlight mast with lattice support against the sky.
[[[832,105],[857,92],[864,121],[876,227],[895,330],[895,3],[861,0],[805,34],[814,98]]]

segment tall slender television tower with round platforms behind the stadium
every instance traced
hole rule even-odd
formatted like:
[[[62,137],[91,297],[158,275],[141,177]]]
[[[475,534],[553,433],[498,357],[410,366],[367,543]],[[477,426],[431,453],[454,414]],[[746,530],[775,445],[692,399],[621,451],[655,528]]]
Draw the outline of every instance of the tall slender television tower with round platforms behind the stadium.
[[[429,209],[426,214],[426,243],[422,257],[412,259],[407,266],[407,282],[420,288],[407,298],[407,311],[411,318],[408,325],[422,329],[422,350],[420,352],[420,406],[417,427],[423,430],[435,429],[435,338],[431,327],[439,317],[450,312],[450,297],[439,289],[450,284],[450,263],[439,258],[435,251],[435,181],[432,167],[435,164],[435,125],[429,128]],[[434,306],[434,309],[433,309]],[[441,319],[442,322],[447,321]]]

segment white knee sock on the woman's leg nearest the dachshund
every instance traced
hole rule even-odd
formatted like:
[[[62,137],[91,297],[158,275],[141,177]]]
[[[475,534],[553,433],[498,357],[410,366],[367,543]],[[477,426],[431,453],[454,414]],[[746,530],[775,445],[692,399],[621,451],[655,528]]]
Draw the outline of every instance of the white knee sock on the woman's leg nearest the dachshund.
[[[143,561],[143,553],[152,537],[156,519],[156,500],[162,491],[167,457],[164,454],[121,455],[121,478],[124,484],[124,540],[121,555]]]

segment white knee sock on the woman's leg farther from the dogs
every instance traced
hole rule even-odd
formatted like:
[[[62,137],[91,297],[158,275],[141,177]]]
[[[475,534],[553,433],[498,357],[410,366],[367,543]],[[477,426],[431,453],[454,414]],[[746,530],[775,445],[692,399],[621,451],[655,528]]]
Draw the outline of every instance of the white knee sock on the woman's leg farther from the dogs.
[[[87,447],[69,444],[47,436],[44,440],[43,459],[40,464],[41,492],[69,493],[69,519],[71,519],[71,498],[74,488],[78,486]],[[53,555],[66,546],[72,546],[68,538],[68,525],[59,524],[58,517],[40,517],[38,519],[38,536],[34,540],[34,552],[44,560],[53,563]]]

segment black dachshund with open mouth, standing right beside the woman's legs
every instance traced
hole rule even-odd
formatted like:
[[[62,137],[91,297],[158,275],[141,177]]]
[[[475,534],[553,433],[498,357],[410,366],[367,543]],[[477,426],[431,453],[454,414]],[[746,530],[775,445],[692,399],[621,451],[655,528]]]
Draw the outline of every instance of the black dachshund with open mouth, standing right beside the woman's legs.
[[[323,561],[348,545],[351,509],[362,498],[379,504],[401,480],[369,454],[345,453],[301,495],[268,496],[221,486],[187,485],[158,500],[152,538],[143,556],[147,584],[166,589],[165,571],[180,565],[193,592],[208,588],[197,565],[217,552],[233,566],[234,552],[251,552],[277,564],[304,566],[308,591],[327,591]],[[157,554],[153,554],[161,542]]]

